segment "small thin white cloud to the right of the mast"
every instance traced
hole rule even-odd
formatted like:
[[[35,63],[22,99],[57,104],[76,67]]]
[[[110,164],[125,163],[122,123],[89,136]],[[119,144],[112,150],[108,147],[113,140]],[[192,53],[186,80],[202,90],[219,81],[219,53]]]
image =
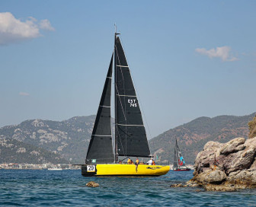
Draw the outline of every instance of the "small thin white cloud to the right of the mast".
[[[206,55],[210,58],[220,58],[222,61],[236,61],[238,58],[230,54],[230,46],[220,46],[213,49],[197,48],[195,49],[197,53]]]

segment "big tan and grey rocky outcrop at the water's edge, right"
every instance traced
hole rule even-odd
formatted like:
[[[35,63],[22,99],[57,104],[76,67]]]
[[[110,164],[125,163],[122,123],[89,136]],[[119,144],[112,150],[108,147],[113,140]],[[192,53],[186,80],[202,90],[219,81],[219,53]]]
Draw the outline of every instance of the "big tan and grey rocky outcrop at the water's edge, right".
[[[207,142],[197,154],[194,177],[188,184],[206,190],[235,191],[256,187],[256,136],[222,144]]]

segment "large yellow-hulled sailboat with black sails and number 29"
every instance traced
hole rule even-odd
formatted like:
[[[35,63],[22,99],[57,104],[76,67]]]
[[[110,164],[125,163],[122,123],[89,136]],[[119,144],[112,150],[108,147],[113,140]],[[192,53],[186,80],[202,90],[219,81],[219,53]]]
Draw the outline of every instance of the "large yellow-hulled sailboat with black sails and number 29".
[[[82,164],[85,177],[147,177],[167,174],[169,166],[148,164],[120,164],[118,159],[151,158],[149,142],[142,120],[139,102],[127,64],[120,33],[115,32],[114,53],[110,59],[91,140]],[[115,138],[112,146],[110,99],[112,68],[114,65]]]

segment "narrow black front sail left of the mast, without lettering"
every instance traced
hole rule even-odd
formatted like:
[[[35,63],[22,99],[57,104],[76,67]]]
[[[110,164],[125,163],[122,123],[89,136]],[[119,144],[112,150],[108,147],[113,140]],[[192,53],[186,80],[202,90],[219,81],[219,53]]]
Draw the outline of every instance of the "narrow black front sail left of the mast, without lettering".
[[[107,72],[107,78],[101,95],[100,106],[94,123],[94,129],[91,134],[91,141],[88,147],[85,163],[113,163],[114,153],[112,147],[111,116],[110,116],[110,96],[111,96],[111,78],[112,62]]]

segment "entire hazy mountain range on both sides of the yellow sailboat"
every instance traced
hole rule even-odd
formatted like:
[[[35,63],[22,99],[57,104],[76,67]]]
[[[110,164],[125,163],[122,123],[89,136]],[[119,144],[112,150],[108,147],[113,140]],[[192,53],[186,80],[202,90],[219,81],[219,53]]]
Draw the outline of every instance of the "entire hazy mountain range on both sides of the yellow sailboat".
[[[194,164],[197,153],[206,142],[228,142],[248,137],[247,116],[202,116],[189,123],[169,129],[149,140],[152,154],[162,161],[173,161],[175,139],[187,164]],[[61,122],[31,119],[18,125],[0,128],[0,163],[31,162],[84,164],[95,116],[75,116]],[[25,148],[25,150],[24,150]]]

